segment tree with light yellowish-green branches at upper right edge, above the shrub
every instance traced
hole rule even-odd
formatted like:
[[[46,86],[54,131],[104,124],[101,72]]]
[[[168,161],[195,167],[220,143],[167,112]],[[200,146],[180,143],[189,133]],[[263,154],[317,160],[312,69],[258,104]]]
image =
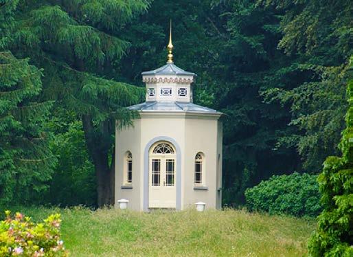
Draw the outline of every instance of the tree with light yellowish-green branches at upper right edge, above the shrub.
[[[295,58],[291,69],[306,76],[295,87],[285,83],[262,91],[269,102],[291,107],[290,124],[298,130],[284,135],[279,144],[296,146],[304,168],[318,172],[328,155],[337,154],[344,126],[343,71],[353,53],[353,5],[347,0],[259,0],[258,5],[282,11],[278,47]],[[284,71],[286,67],[279,67],[273,78]]]

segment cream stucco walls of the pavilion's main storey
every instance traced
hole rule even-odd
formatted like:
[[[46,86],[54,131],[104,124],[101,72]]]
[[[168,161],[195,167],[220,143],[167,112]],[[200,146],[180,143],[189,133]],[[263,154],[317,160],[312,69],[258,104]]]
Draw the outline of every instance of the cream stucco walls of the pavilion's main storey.
[[[204,201],[206,208],[220,208],[222,170],[222,126],[219,115],[196,115],[194,113],[141,113],[134,127],[116,133],[115,199],[126,198],[128,208],[144,208],[144,150],[155,137],[171,137],[181,149],[181,210],[196,201]],[[122,189],[124,155],[133,154],[132,189]],[[195,155],[205,155],[203,176],[207,190],[194,189]],[[218,157],[219,156],[219,157]],[[218,158],[219,161],[218,161]]]

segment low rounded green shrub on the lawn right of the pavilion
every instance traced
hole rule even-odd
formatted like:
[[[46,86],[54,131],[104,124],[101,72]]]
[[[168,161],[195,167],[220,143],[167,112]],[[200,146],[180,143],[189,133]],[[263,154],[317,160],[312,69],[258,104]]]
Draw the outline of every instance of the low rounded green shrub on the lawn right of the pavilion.
[[[273,176],[258,186],[245,191],[250,211],[294,216],[317,216],[321,207],[316,175],[295,172],[292,175]]]

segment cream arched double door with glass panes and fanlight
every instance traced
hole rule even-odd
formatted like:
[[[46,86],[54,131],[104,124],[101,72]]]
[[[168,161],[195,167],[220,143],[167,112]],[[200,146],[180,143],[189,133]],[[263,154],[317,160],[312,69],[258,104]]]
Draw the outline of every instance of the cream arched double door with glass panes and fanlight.
[[[176,207],[175,148],[168,142],[158,142],[150,149],[149,208]]]

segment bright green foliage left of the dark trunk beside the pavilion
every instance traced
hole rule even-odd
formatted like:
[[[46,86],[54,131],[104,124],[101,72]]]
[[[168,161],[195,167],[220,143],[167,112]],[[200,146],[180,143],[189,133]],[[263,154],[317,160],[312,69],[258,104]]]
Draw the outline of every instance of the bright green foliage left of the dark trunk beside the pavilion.
[[[62,118],[66,115],[66,118]],[[49,131],[56,136],[50,148],[58,158],[48,190],[41,199],[52,205],[97,204],[95,170],[89,160],[82,122],[75,120],[73,113],[63,111],[47,123]]]

